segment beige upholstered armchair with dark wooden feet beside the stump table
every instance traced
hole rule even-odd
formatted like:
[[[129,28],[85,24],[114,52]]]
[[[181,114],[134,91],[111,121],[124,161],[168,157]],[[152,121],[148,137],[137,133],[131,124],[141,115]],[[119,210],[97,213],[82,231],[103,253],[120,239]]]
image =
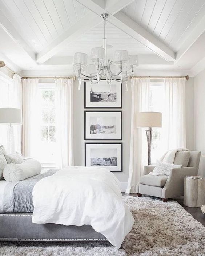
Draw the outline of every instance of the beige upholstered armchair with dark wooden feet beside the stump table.
[[[166,202],[168,198],[183,196],[184,177],[197,175],[200,156],[200,151],[190,151],[188,166],[171,169],[169,176],[149,175],[155,166],[144,166],[143,176],[137,184],[137,196],[142,196],[142,194],[156,196],[162,198],[163,202]]]

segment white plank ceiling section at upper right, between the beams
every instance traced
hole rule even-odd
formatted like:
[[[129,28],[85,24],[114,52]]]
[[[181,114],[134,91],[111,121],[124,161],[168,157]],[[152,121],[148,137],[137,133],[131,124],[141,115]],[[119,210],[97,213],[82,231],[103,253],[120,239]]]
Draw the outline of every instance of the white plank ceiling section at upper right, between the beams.
[[[135,0],[122,12],[178,51],[204,16],[204,0]]]

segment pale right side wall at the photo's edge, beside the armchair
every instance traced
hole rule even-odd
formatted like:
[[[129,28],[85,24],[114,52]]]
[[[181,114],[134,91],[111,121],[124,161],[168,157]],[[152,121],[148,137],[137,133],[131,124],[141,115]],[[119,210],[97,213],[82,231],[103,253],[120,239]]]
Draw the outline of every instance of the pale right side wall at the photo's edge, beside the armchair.
[[[194,78],[195,150],[205,154],[205,70]],[[205,176],[205,157],[201,157],[198,175]]]

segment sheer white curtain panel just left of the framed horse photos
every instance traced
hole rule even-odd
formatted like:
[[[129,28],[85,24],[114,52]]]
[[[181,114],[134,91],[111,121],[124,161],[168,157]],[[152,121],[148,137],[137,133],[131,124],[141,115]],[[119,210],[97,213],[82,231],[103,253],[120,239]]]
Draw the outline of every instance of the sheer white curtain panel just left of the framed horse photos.
[[[73,165],[73,79],[55,79],[57,166]]]

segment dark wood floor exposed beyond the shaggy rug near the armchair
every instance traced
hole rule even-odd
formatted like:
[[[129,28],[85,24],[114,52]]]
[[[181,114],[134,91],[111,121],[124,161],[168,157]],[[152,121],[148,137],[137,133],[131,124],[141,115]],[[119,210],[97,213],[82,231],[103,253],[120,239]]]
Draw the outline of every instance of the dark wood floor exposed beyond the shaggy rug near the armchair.
[[[136,197],[137,194],[125,194],[125,192],[122,192],[123,196],[134,196]],[[201,209],[198,207],[187,207],[183,204],[183,197],[177,197],[174,198],[188,213],[192,214],[192,216],[198,221],[201,222],[202,225],[205,227],[205,214],[201,212]],[[165,203],[166,204],[166,203]]]

